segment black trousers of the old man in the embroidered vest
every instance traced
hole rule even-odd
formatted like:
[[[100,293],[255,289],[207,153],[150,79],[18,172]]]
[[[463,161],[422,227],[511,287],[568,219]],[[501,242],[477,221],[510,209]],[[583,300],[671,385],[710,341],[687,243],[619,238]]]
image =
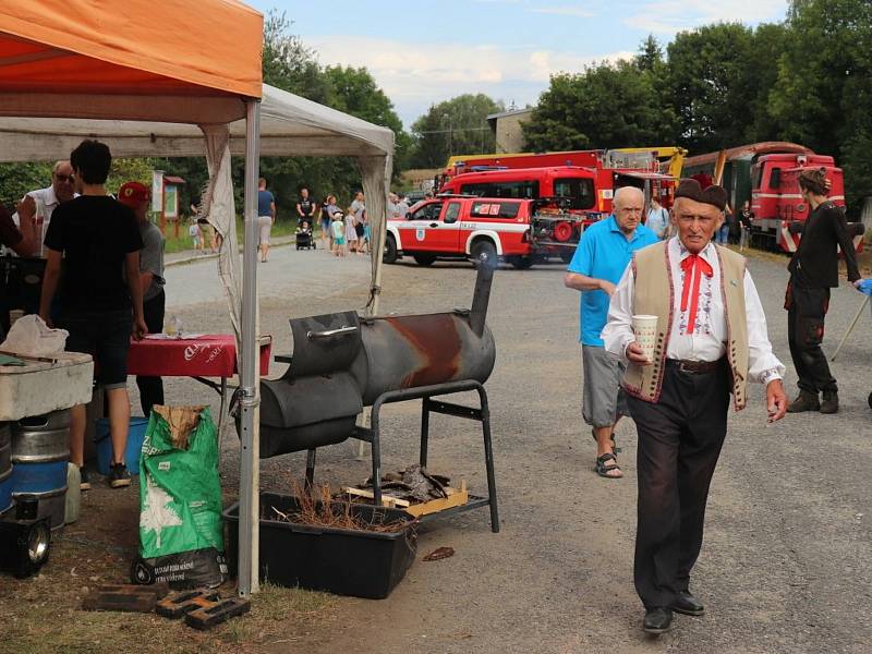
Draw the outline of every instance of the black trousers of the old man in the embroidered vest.
[[[639,434],[633,581],[645,607],[688,590],[702,546],[705,502],[727,434],[729,375],[667,363],[656,403],[628,398]]]

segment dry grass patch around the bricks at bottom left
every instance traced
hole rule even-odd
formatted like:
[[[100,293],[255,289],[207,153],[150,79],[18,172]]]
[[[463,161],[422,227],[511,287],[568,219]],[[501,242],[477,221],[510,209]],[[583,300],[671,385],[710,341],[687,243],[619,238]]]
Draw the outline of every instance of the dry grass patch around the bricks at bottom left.
[[[82,610],[89,590],[123,581],[126,559],[61,538],[52,544],[51,559],[38,577],[0,576],[0,654],[247,652],[265,643],[300,640],[334,617],[335,596],[271,583],[262,584],[252,597],[251,613],[207,632],[155,614]],[[233,592],[222,589],[223,596]]]

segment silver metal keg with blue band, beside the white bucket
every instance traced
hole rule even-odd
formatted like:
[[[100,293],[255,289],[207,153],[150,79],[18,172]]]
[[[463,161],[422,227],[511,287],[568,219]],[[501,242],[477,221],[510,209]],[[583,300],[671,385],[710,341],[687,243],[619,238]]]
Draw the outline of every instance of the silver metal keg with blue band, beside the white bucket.
[[[24,417],[12,423],[11,431],[13,498],[36,499],[37,518],[48,517],[52,531],[62,529],[70,459],[70,410]]]

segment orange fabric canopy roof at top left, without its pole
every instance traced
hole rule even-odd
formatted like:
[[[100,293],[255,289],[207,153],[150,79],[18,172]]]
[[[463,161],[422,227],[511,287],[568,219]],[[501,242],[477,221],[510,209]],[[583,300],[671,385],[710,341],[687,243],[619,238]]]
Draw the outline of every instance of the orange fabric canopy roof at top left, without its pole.
[[[0,113],[229,122],[261,97],[262,39],[235,0],[3,2]]]

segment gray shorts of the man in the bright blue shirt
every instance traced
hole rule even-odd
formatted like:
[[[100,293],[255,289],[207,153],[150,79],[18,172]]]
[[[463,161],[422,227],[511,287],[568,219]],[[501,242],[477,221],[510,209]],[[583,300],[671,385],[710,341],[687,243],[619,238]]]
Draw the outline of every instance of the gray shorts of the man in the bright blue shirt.
[[[627,396],[620,386],[626,366],[605,348],[581,347],[584,373],[581,414],[593,427],[610,427],[621,415],[629,415]]]

